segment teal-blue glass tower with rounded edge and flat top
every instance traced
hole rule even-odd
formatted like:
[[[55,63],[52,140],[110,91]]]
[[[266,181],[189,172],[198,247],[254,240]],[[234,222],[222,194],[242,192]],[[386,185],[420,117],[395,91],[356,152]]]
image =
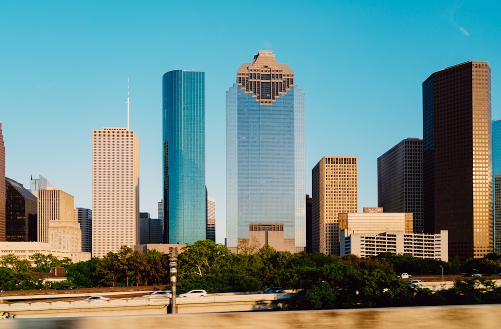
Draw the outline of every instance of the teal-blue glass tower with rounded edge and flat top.
[[[205,73],[163,75],[165,243],[205,239]]]

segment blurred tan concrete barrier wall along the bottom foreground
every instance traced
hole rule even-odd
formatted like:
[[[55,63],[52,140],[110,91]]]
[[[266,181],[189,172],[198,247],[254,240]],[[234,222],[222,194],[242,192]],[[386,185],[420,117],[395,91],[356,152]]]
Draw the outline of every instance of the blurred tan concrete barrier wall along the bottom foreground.
[[[316,311],[0,319],[0,329],[241,329],[256,327],[260,329],[490,329],[498,327],[499,323],[501,323],[501,305],[493,304]]]

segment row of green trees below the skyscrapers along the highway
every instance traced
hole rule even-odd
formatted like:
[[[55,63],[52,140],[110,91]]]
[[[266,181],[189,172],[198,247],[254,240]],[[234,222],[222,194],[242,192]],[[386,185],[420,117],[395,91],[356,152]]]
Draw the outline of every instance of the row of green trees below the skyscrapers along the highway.
[[[460,263],[391,253],[360,258],[321,253],[277,251],[243,241],[237,254],[210,240],[187,244],[178,255],[178,292],[205,289],[213,292],[258,291],[269,286],[298,290],[291,309],[441,305],[501,302],[501,290],[492,281],[465,278],[453,288],[432,292],[396,279],[396,272],[453,274],[472,268],[485,273],[501,271],[501,257],[489,255]],[[64,266],[68,282],[79,287],[162,284],[169,287],[168,254],[147,250],[144,254],[122,246],[117,253],[72,263],[52,255],[36,254],[28,260],[8,255],[0,259],[0,286],[4,289],[44,288],[29,272],[47,272]],[[60,283],[60,284],[63,284]],[[481,285],[480,285],[481,283]],[[56,283],[55,283],[56,284]]]

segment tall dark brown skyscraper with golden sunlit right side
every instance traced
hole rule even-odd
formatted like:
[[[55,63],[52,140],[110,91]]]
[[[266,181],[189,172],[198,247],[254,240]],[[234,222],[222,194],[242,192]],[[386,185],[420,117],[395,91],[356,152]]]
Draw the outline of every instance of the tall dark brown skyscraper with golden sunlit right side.
[[[490,66],[469,61],[423,82],[424,231],[448,230],[449,255],[492,252]]]

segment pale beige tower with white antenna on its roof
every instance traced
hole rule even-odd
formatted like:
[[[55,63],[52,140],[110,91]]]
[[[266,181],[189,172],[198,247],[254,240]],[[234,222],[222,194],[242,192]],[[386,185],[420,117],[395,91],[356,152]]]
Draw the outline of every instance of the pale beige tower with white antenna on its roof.
[[[92,130],[92,256],[139,242],[139,138],[128,128]]]

